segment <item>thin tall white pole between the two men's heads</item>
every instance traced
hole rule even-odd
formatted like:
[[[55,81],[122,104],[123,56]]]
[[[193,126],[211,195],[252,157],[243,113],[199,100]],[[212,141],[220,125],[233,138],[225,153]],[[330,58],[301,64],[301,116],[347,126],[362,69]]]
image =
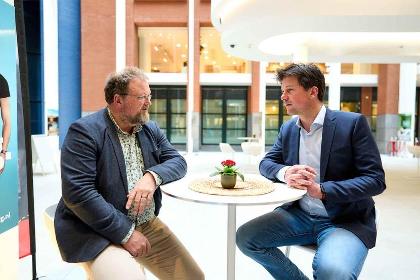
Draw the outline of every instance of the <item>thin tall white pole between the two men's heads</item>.
[[[187,110],[187,152],[192,154],[192,116],[194,110],[194,0],[188,1],[188,110]]]

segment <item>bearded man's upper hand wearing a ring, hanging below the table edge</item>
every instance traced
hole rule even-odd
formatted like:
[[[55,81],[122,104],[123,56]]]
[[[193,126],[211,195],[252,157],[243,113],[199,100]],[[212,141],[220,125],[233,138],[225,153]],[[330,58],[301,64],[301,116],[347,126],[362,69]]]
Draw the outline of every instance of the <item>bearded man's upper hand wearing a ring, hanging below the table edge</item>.
[[[156,190],[156,181],[153,178],[153,175],[150,172],[146,172],[143,177],[137,181],[136,186],[130,192],[128,197],[127,204],[125,209],[129,210],[131,205],[134,204],[133,213],[142,214],[144,207],[149,209],[152,204],[153,193]]]

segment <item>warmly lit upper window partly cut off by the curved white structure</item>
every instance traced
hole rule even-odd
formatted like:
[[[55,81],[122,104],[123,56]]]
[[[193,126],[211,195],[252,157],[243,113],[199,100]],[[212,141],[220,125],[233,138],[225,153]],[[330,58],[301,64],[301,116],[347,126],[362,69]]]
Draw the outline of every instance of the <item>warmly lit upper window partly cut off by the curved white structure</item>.
[[[222,49],[221,34],[216,28],[200,28],[200,73],[250,73],[250,68],[250,61]]]

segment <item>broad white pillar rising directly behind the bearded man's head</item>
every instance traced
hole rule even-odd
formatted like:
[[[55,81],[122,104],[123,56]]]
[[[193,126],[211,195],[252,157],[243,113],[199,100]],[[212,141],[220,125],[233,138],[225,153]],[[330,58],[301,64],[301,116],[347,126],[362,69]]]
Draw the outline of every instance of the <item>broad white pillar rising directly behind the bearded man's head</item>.
[[[115,0],[115,69],[125,67],[125,0]]]

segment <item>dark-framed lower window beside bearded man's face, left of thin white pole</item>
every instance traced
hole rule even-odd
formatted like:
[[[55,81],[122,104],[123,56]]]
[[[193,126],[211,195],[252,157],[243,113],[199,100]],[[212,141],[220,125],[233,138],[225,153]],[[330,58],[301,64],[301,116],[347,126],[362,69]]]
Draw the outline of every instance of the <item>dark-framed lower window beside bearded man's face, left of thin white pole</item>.
[[[150,86],[150,119],[158,123],[172,144],[187,142],[187,90],[180,86]]]

